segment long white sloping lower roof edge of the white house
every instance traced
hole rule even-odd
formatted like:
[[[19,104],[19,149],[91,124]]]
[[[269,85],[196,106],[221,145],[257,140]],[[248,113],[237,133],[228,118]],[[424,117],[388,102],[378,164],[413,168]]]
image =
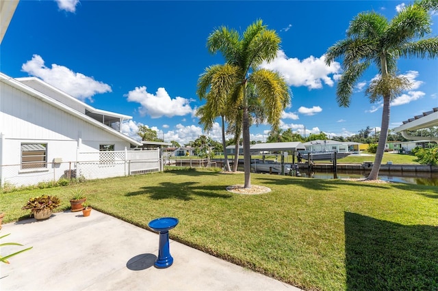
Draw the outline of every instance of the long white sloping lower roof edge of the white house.
[[[124,141],[128,141],[133,146],[142,146],[142,143],[140,143],[140,141],[136,141],[135,139],[128,137],[127,135],[124,135],[123,133],[120,133],[117,130],[114,130],[110,126],[107,126],[107,125],[105,125],[97,120],[94,120],[94,118],[92,118],[84,113],[81,113],[80,111],[77,111],[77,110],[65,105],[64,103],[62,103],[58,100],[55,100],[54,98],[51,98],[51,97],[47,96],[46,94],[42,94],[42,92],[40,92],[32,87],[29,87],[28,85],[25,85],[24,83],[21,83],[20,81],[17,81],[16,79],[9,77],[8,75],[3,74],[1,72],[0,72],[0,82],[5,83],[7,85],[10,85],[11,87],[14,87],[18,90],[21,90],[22,92],[25,92],[31,96],[34,96],[35,98],[38,98],[42,102],[46,102],[47,104],[49,104],[57,109],[60,109],[60,110],[66,112],[70,115],[73,115],[73,116],[85,121],[85,122],[88,122],[89,124],[92,124],[98,128],[101,128],[102,130],[106,131],[107,133],[110,133],[111,135],[118,137],[119,139],[123,139]],[[48,87],[50,86],[47,83],[46,83],[46,85],[48,85]],[[50,86],[50,87],[53,87],[53,86]],[[63,92],[63,94],[66,94],[66,93]],[[71,98],[73,98],[73,97],[71,97]]]

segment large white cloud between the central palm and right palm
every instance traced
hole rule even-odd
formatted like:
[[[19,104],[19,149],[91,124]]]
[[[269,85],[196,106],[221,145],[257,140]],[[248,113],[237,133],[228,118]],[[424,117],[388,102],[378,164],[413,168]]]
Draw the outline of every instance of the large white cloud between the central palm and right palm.
[[[261,68],[279,72],[289,86],[306,86],[309,89],[320,89],[322,88],[322,82],[330,87],[333,86],[335,77],[331,79],[329,74],[338,74],[341,65],[335,61],[331,66],[326,66],[324,55],[319,58],[310,56],[300,61],[296,58],[288,58],[284,51],[279,50],[274,61],[269,64],[263,62]]]

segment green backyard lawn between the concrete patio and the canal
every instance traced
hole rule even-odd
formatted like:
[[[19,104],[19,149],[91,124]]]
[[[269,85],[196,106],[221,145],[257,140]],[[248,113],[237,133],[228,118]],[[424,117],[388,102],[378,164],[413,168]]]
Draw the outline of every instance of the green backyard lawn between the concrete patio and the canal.
[[[437,187],[251,177],[272,192],[230,193],[243,174],[202,169],[80,186],[97,210],[144,228],[177,217],[170,238],[305,290],[438,289]],[[27,217],[21,206],[42,193],[68,209],[74,187],[1,193],[3,223]]]

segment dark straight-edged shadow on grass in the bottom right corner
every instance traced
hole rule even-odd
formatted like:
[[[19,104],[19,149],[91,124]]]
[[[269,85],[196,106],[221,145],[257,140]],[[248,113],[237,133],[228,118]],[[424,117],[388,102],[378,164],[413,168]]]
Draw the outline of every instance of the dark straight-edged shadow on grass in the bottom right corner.
[[[437,290],[438,227],[345,212],[346,290]]]

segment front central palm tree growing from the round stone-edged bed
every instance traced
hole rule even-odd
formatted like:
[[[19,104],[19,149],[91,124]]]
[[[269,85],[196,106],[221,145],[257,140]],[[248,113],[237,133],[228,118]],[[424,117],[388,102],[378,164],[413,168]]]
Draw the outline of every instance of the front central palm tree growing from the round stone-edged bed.
[[[244,140],[245,188],[250,188],[250,103],[248,85],[255,89],[272,129],[279,127],[281,112],[290,102],[289,87],[277,72],[259,68],[263,61],[272,61],[279,49],[280,38],[266,28],[261,20],[248,26],[242,37],[234,29],[219,27],[210,34],[207,48],[210,53],[222,53],[227,74],[211,79],[211,88],[223,88],[219,96],[227,96],[236,108],[242,110]],[[222,83],[220,83],[222,82]],[[229,91],[228,91],[229,90]]]

